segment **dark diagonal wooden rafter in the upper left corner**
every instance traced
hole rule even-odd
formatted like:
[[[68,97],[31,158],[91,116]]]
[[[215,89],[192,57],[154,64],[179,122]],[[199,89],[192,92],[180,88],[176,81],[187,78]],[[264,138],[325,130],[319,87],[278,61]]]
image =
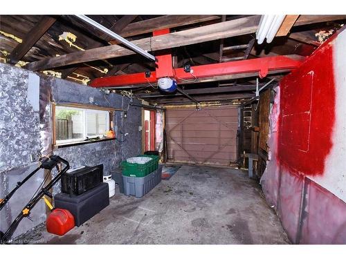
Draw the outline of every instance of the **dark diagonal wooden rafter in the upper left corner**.
[[[56,20],[55,17],[42,17],[42,19],[40,19],[39,22],[25,35],[23,42],[17,44],[15,49],[12,50],[10,56],[8,56],[8,59],[10,59],[9,63],[17,64],[17,62],[20,61],[31,48],[33,48],[35,43],[41,39],[44,33],[51,28]]]

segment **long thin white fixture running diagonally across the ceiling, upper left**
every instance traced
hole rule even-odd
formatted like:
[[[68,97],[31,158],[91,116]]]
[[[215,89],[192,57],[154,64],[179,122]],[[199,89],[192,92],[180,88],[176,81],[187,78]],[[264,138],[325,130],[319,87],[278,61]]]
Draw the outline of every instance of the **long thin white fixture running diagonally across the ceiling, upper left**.
[[[114,39],[120,41],[125,46],[131,48],[131,50],[134,50],[134,52],[137,52],[140,55],[143,55],[144,57],[147,57],[148,59],[155,61],[155,57],[151,54],[149,54],[147,51],[143,50],[142,48],[139,48],[135,44],[131,43],[127,39],[124,39],[120,35],[116,34],[116,32],[112,32],[108,28],[102,26],[100,23],[94,21],[93,19],[90,19],[89,17],[86,17],[85,15],[75,15],[79,19],[85,21],[86,23],[89,23],[91,26],[98,28],[98,30],[101,30],[102,32],[106,33],[107,35],[113,37]]]

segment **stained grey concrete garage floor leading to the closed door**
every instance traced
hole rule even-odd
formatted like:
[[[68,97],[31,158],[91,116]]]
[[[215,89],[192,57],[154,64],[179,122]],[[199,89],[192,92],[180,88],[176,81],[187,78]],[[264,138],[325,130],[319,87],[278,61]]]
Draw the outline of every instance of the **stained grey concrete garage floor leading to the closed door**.
[[[143,198],[117,193],[109,207],[65,236],[42,225],[22,238],[39,244],[289,244],[244,171],[188,165]]]

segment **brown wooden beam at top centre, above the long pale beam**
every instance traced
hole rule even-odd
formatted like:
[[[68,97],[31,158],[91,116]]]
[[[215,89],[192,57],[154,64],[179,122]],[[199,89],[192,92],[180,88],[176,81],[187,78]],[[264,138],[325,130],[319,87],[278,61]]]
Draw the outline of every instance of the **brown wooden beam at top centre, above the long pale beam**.
[[[217,15],[164,15],[162,17],[130,23],[126,28],[124,28],[124,30],[122,30],[120,35],[122,37],[131,37],[153,32],[154,30],[175,28],[217,19],[220,19]]]

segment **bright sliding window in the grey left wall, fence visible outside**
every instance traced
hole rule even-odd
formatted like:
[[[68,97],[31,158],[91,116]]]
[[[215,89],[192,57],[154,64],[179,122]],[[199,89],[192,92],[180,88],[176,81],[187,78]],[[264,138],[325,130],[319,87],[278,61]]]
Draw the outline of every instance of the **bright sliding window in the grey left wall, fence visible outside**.
[[[55,144],[82,142],[109,131],[109,111],[55,106]]]

